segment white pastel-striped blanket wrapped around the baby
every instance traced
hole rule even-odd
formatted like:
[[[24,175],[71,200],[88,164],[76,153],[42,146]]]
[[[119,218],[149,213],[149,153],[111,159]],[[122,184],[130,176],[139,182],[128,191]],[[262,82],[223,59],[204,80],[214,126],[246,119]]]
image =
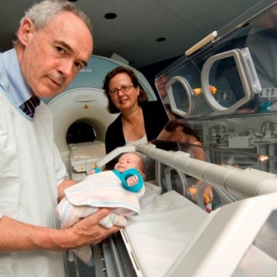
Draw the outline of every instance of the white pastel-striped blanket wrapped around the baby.
[[[125,226],[125,217],[140,212],[139,197],[144,191],[144,186],[138,193],[125,190],[120,179],[111,170],[88,175],[80,183],[67,188],[66,196],[57,205],[56,215],[60,220],[61,229],[66,229],[81,218],[96,213],[101,207],[116,208],[114,213],[101,220],[102,226]],[[80,247],[73,249],[73,252],[87,265],[93,265],[91,247]],[[72,251],[69,251],[69,260],[73,260]]]

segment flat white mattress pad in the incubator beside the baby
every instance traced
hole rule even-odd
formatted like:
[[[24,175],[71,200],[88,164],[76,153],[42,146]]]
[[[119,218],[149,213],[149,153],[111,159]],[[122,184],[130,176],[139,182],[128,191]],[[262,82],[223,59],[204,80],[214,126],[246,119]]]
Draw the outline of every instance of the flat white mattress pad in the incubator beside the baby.
[[[140,202],[141,213],[128,218],[123,240],[138,276],[163,276],[208,214],[174,190],[157,195],[146,186]]]

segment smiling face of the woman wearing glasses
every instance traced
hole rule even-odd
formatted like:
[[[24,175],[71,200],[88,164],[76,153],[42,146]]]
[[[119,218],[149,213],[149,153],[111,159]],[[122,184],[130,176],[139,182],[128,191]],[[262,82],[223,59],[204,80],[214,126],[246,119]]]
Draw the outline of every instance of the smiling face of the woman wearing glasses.
[[[133,86],[132,79],[127,73],[118,73],[109,80],[109,91],[118,89],[117,93],[111,95],[111,101],[120,111],[126,111],[138,105],[139,87],[131,87],[129,91],[120,91],[123,86]]]

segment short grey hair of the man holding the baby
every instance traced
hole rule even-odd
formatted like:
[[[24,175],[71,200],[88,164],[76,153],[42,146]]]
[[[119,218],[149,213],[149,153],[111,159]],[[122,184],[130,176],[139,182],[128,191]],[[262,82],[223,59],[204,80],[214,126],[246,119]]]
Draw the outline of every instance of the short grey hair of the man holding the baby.
[[[48,22],[55,17],[55,15],[58,15],[61,12],[73,12],[73,14],[84,21],[92,35],[92,27],[89,17],[87,17],[87,15],[85,15],[84,12],[77,8],[73,3],[66,0],[44,0],[39,3],[35,3],[28,10],[26,10],[20,24],[24,19],[28,18],[33,22],[36,30],[42,30],[46,24],[48,24]],[[19,44],[18,37],[13,44],[14,46]]]

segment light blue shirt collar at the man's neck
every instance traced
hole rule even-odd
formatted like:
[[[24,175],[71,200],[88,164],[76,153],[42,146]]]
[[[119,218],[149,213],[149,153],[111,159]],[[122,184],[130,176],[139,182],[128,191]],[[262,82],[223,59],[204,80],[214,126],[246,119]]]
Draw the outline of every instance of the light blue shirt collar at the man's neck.
[[[15,48],[0,54],[0,82],[17,107],[33,95],[21,73]]]

